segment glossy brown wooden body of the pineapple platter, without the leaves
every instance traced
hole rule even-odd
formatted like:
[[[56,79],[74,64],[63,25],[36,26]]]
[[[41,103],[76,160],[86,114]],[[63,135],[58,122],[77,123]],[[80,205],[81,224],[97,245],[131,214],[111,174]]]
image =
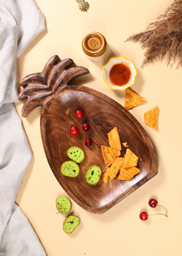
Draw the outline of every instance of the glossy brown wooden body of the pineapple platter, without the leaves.
[[[84,118],[75,118],[77,110],[84,111]],[[89,131],[81,129],[84,122],[90,125]],[[80,132],[71,136],[69,130],[74,125]],[[108,145],[107,132],[114,126],[118,127],[121,142],[127,141],[129,148],[139,157],[141,172],[132,181],[114,179],[104,184],[100,180],[97,185],[90,186],[85,180],[85,173],[91,165],[98,165],[105,172],[101,145]],[[49,108],[42,109],[41,131],[55,178],[68,195],[88,212],[106,212],[158,172],[156,152],[139,122],[120,104],[90,88],[66,86],[52,100]],[[93,145],[86,146],[86,138],[92,138]],[[71,146],[79,146],[85,152],[76,178],[65,177],[60,172],[62,163],[68,160],[67,150]],[[125,149],[122,148],[121,156],[124,156]]]

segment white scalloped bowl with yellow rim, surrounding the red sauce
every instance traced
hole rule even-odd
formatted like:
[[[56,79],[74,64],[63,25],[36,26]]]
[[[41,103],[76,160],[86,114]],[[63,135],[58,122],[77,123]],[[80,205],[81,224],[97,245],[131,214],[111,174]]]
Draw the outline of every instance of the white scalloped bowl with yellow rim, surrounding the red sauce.
[[[125,84],[125,85],[115,85],[109,79],[109,72],[110,72],[111,68],[114,66],[114,64],[120,64],[120,63],[127,64],[127,66],[129,67],[129,69],[131,71],[130,79],[127,82],[127,84]],[[133,64],[133,61],[129,60],[129,59],[127,59],[127,57],[123,57],[123,56],[111,57],[109,59],[109,61],[107,62],[107,64],[105,64],[103,66],[102,72],[103,72],[104,82],[108,85],[108,87],[112,90],[120,90],[120,91],[124,91],[129,86],[132,86],[135,82],[135,77],[138,73],[135,65]]]

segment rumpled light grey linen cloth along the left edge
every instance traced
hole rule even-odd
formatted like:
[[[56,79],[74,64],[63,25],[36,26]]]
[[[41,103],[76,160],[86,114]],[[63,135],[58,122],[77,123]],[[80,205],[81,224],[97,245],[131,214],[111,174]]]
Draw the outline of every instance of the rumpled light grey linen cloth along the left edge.
[[[46,255],[15,203],[32,153],[13,104],[18,101],[16,58],[44,23],[34,0],[0,0],[0,256]]]

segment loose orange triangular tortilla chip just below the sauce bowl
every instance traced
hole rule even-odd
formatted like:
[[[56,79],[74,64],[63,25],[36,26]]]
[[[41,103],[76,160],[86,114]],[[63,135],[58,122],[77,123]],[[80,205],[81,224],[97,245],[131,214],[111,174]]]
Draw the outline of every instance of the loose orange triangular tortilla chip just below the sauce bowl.
[[[146,98],[142,98],[138,93],[131,88],[127,88],[125,94],[125,108],[127,110],[133,109],[133,107],[146,102]]]

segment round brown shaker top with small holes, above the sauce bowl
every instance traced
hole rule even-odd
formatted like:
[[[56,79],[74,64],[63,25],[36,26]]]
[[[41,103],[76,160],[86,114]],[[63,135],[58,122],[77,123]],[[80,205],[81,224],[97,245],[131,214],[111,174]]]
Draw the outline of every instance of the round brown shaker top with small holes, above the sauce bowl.
[[[107,50],[106,38],[99,32],[91,32],[82,39],[82,50],[90,57],[99,57]]]

